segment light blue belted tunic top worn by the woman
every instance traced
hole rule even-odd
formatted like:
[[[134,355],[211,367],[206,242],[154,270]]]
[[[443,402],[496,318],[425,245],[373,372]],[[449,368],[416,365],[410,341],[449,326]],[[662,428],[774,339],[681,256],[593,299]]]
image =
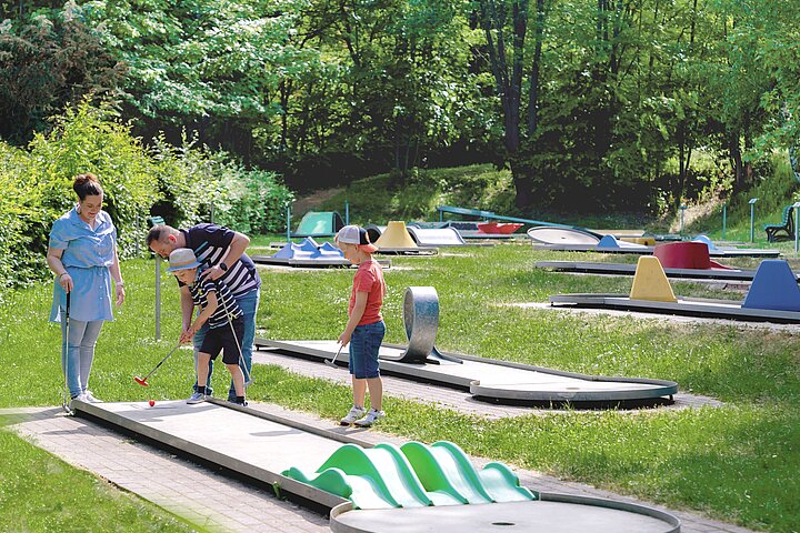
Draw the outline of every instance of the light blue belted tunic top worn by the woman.
[[[91,322],[113,320],[111,312],[111,272],[117,247],[117,228],[106,211],[100,211],[94,229],[81,220],[73,208],[58,219],[50,231],[50,248],[63,250],[61,263],[72,278],[70,319]],[[56,279],[50,321],[60,322],[67,293]]]

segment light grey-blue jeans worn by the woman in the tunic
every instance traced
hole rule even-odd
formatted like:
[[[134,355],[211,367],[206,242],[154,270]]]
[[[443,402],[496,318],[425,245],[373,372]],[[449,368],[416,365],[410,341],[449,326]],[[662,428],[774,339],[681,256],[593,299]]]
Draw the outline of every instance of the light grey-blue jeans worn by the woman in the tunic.
[[[94,345],[102,320],[93,320],[91,322],[82,322],[80,320],[69,321],[69,338],[67,333],[67,321],[61,321],[61,339],[66,339],[61,343],[61,369],[67,376],[67,388],[70,396],[86,392],[89,386],[89,373],[91,364],[94,360]]]

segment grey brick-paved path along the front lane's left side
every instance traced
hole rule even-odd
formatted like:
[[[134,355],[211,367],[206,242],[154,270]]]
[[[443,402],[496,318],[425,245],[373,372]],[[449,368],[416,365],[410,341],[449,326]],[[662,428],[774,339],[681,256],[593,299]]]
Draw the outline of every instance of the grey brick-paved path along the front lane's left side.
[[[329,532],[328,519],[222,474],[141,444],[60,408],[0,410],[9,428],[66,462],[210,532]]]

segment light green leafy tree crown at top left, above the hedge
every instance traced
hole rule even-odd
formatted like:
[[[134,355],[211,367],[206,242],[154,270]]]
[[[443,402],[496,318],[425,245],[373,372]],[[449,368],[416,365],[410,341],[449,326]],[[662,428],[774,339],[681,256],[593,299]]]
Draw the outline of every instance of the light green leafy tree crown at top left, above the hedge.
[[[181,123],[206,115],[269,119],[279,72],[302,60],[283,47],[302,2],[91,0],[82,13],[103,24],[109,49],[130,76],[126,101]]]

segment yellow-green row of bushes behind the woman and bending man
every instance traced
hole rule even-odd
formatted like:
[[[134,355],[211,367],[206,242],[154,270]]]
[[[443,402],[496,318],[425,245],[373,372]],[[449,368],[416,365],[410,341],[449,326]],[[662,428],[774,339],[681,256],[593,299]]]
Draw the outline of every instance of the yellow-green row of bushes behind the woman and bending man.
[[[107,103],[88,100],[52,120],[28,150],[0,142],[0,289],[47,278],[50,229],[76,202],[76,174],[94,173],[121,258],[140,253],[146,218],[183,227],[208,220],[246,232],[282,229],[291,193],[271,172],[247,170],[222,152],[159,139],[147,149]],[[0,293],[0,301],[2,294]]]

